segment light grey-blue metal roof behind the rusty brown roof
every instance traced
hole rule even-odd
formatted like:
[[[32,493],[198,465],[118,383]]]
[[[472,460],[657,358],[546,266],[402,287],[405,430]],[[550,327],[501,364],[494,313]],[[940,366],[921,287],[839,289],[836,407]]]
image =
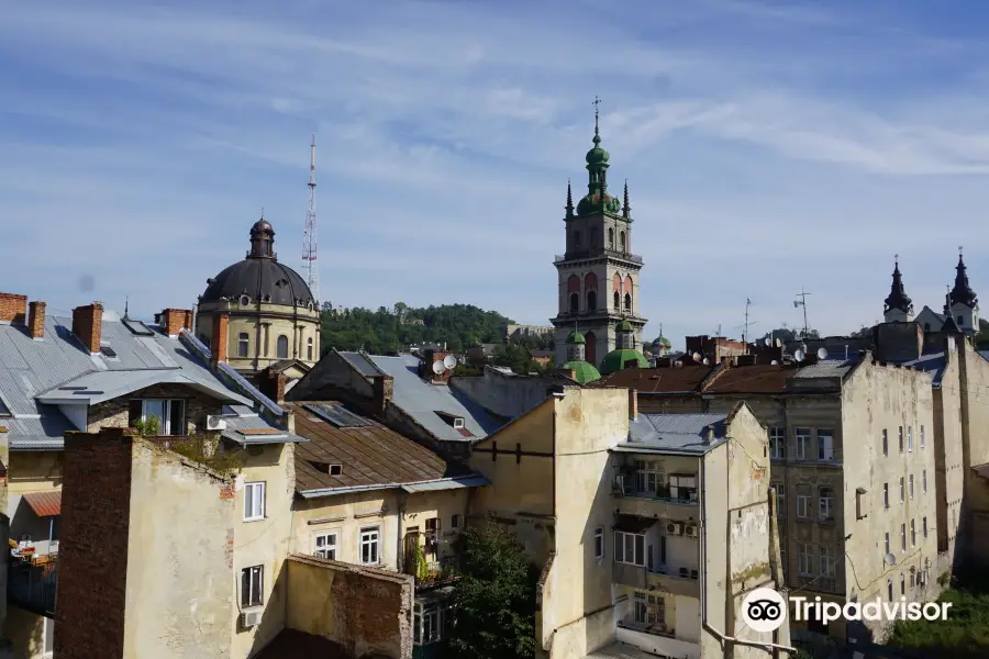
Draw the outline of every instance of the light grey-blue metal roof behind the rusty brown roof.
[[[392,402],[410,414],[416,423],[438,439],[473,442],[487,437],[501,427],[501,422],[488,414],[477,403],[446,384],[432,384],[419,377],[419,358],[414,355],[382,357],[342,353],[348,360],[354,356],[366,358],[374,366],[393,378]],[[471,436],[463,435],[438,413],[464,420]]]

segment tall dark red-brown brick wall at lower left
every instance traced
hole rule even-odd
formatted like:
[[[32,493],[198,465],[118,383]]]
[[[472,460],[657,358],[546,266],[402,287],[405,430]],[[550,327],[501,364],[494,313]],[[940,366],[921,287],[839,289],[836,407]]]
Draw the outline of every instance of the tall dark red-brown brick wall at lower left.
[[[123,657],[131,438],[67,433],[55,656]]]

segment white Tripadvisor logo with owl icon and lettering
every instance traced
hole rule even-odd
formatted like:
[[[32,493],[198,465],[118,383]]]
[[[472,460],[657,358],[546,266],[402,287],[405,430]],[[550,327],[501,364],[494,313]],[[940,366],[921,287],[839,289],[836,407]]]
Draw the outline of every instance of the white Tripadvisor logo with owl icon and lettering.
[[[822,602],[807,597],[789,597],[792,605],[793,619],[797,622],[819,621],[823,624],[838,618],[846,621],[945,621],[951,602],[908,602],[900,597],[899,602],[884,602],[876,597],[870,602]],[[788,615],[787,601],[773,589],[757,588],[742,602],[742,619],[754,632],[774,632],[782,626]]]

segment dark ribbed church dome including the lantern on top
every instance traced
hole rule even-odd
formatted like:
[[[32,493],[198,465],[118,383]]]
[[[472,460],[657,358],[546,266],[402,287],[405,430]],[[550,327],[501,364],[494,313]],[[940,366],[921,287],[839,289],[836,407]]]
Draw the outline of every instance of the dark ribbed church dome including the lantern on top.
[[[274,250],[275,230],[264,217],[251,227],[251,252],[247,258],[207,280],[200,302],[219,302],[221,298],[237,301],[242,295],[252,303],[315,304],[312,291],[298,272],[278,263]]]

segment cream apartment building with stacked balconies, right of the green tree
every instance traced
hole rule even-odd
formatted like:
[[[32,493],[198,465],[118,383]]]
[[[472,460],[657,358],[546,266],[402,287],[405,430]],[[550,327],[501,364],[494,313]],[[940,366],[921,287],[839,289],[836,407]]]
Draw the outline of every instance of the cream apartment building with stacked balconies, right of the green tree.
[[[511,527],[543,567],[540,656],[768,657],[745,593],[778,583],[765,428],[653,415],[627,390],[565,388],[478,443],[491,485],[471,514]]]

